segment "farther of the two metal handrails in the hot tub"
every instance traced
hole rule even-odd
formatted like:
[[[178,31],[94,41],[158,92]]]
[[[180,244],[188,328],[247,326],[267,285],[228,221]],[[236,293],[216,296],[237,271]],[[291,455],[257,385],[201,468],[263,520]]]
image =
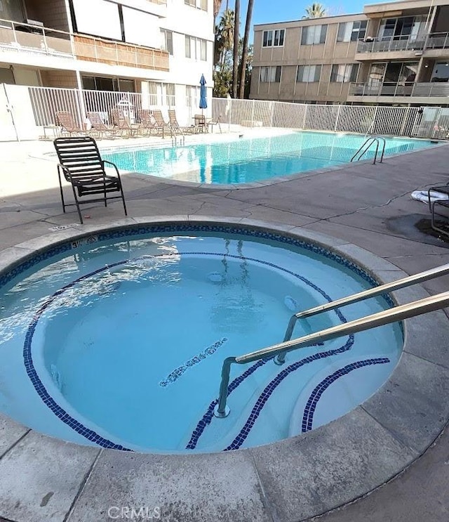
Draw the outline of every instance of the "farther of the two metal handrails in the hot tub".
[[[420,272],[415,275],[408,275],[406,278],[388,282],[385,285],[363,290],[363,292],[358,292],[358,294],[342,297],[341,299],[336,299],[330,303],[321,304],[319,306],[314,306],[314,308],[309,308],[308,310],[295,313],[290,317],[283,341],[290,341],[293,335],[293,329],[295,329],[296,321],[298,319],[311,317],[311,315],[316,315],[322,312],[329,312],[335,310],[335,308],[340,308],[341,306],[358,303],[360,301],[364,301],[365,299],[369,299],[370,297],[387,294],[388,292],[393,292],[394,290],[417,285],[418,283],[428,281],[429,279],[441,278],[442,275],[447,274],[449,274],[449,263],[437,266],[436,268],[431,268],[430,270],[424,270],[424,272]],[[285,353],[279,353],[279,355],[276,355],[274,362],[277,365],[282,365],[285,362]]]

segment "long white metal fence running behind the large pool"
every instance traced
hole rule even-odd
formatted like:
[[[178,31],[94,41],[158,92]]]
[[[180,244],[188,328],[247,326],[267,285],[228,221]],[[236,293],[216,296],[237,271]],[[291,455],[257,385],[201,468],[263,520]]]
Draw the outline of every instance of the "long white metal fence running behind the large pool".
[[[81,129],[88,128],[88,113],[98,112],[105,123],[111,111],[121,108],[131,123],[139,121],[140,109],[174,108],[180,125],[192,125],[199,107],[178,96],[173,107],[153,105],[151,94],[79,91],[50,87],[0,84],[0,141],[36,139],[58,132],[58,112],[69,112]],[[182,101],[182,103],[180,103]],[[391,107],[385,105],[306,105],[264,100],[212,98],[205,110],[222,129],[281,127],[314,131],[371,133],[385,136],[449,136],[448,110],[441,107]],[[49,131],[49,132],[48,132]]]

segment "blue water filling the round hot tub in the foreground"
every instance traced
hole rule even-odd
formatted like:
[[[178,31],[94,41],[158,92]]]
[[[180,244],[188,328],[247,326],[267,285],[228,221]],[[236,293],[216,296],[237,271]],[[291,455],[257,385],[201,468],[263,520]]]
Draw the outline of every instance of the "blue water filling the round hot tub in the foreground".
[[[43,433],[153,452],[245,448],[344,415],[388,378],[403,343],[387,325],[232,368],[282,341],[293,312],[372,285],[308,244],[220,231],[94,236],[6,278],[0,411]],[[121,236],[121,237],[120,237]],[[384,299],[298,322],[294,337],[388,308]]]

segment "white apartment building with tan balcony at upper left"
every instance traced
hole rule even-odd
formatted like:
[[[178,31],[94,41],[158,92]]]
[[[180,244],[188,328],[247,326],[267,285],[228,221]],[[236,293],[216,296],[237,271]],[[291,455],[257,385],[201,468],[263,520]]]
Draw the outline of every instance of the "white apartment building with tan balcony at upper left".
[[[0,0],[0,84],[212,94],[213,0]]]

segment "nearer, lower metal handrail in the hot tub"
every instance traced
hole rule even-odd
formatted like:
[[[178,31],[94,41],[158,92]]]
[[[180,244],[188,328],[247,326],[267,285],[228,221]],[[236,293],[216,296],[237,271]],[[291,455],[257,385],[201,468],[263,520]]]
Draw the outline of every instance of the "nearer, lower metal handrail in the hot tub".
[[[215,417],[227,417],[229,415],[229,406],[227,406],[227,392],[229,386],[229,375],[231,372],[231,365],[252,363],[255,360],[267,358],[272,355],[278,355],[279,353],[285,353],[299,348],[305,348],[311,344],[316,344],[323,341],[329,341],[337,337],[342,337],[347,334],[355,334],[356,332],[363,332],[370,328],[377,326],[388,325],[391,322],[397,322],[403,319],[415,317],[422,313],[429,313],[441,308],[449,306],[449,292],[443,292],[442,294],[436,294],[429,296],[419,301],[413,301],[412,303],[403,304],[396,306],[395,308],[389,308],[382,312],[374,313],[373,315],[367,315],[366,317],[356,319],[351,322],[346,322],[343,325],[333,326],[320,332],[313,334],[307,334],[298,339],[286,341],[262,350],[255,352],[246,353],[246,355],[240,355],[239,357],[228,357],[223,361],[222,366],[222,380],[220,383],[220,396],[217,401],[217,405],[214,408]]]

